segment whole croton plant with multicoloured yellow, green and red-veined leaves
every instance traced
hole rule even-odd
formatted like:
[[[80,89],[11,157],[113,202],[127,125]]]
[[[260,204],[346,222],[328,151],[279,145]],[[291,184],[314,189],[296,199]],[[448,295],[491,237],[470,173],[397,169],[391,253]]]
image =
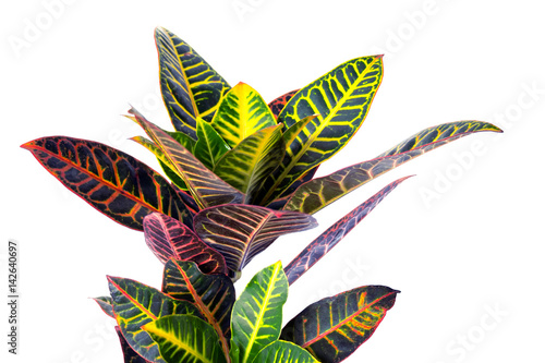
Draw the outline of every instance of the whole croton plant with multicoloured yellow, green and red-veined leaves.
[[[174,131],[129,118],[160,173],[105,144],[66,136],[22,147],[117,222],[144,232],[165,264],[161,289],[108,277],[95,299],[117,320],[125,362],[340,362],[375,331],[399,291],[363,286],[307,306],[282,327],[288,288],[407,178],[386,185],[292,262],[264,268],[237,299],[242,269],[280,235],[372,179],[462,136],[500,132],[459,121],[423,130],[371,160],[314,178],[360,129],[383,78],[382,56],[350,60],[268,105],[231,87],[192,47],[157,28],[160,85]],[[280,256],[279,256],[280,257]]]

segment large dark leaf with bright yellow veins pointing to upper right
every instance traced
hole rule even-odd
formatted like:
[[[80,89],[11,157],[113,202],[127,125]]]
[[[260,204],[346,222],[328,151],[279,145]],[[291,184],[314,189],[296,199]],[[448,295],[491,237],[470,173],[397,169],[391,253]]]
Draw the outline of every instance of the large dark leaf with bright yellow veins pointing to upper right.
[[[348,61],[298,92],[278,122],[287,128],[317,117],[287,144],[286,157],[269,177],[261,197],[266,205],[302,174],[339,152],[360,129],[383,77],[382,56]]]

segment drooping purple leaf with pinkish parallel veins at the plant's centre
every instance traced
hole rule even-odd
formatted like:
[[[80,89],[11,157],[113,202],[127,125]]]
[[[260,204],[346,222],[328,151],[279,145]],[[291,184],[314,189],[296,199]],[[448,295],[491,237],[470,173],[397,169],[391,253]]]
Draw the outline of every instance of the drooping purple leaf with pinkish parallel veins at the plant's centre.
[[[219,251],[227,267],[237,273],[278,237],[313,228],[316,220],[301,213],[231,204],[201,210],[194,226],[198,237]]]

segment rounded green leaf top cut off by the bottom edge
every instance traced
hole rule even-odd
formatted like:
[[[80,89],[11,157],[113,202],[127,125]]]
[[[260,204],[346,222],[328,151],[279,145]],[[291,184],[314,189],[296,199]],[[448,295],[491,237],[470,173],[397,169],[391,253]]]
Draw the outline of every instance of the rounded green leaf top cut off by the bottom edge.
[[[319,363],[303,348],[277,340],[259,351],[252,363]]]

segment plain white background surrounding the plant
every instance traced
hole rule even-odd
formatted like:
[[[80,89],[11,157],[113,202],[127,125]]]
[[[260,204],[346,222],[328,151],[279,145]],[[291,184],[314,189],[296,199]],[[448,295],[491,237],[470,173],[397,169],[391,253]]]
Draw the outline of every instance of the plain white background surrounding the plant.
[[[372,158],[427,126],[467,119],[506,132],[441,147],[366,184],[279,240],[258,269],[284,264],[322,230],[397,178],[392,192],[290,290],[284,319],[362,286],[401,290],[376,334],[347,362],[543,362],[545,22],[538,1],[2,2],[1,193],[20,242],[20,354],[9,362],[122,362],[110,320],[89,300],[105,276],[160,287],[141,232],[101,216],[19,146],[46,135],[106,143],[158,169],[129,137],[129,104],[171,128],[158,90],[154,28],[190,43],[231,85],[266,100],[349,59],[385,53],[368,117],[322,173]],[[49,4],[49,5],[48,5]],[[55,4],[55,5],[52,5]],[[1,299],[2,301],[7,299]],[[2,361],[4,359],[2,358]]]

